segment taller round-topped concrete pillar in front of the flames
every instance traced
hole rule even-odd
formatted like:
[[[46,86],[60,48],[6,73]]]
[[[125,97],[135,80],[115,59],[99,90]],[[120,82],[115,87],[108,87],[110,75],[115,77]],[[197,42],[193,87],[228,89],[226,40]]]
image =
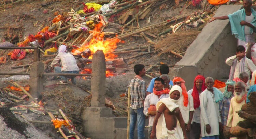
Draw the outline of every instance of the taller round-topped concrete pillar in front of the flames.
[[[102,50],[93,54],[91,78],[92,107],[105,107],[106,94],[106,59]]]

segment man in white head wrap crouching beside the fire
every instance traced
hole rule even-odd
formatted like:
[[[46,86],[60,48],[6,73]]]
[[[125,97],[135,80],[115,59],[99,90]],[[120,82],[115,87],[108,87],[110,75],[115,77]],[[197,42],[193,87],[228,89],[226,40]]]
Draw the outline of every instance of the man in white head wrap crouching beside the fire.
[[[53,66],[59,62],[62,67],[55,66],[55,73],[79,73],[79,68],[76,64],[75,57],[72,54],[66,52],[66,45],[59,46],[58,55],[54,58],[50,66],[53,68]],[[71,78],[72,84],[76,84],[75,77],[76,76],[60,76],[60,78],[63,79],[61,81],[62,83],[67,83],[67,78]]]

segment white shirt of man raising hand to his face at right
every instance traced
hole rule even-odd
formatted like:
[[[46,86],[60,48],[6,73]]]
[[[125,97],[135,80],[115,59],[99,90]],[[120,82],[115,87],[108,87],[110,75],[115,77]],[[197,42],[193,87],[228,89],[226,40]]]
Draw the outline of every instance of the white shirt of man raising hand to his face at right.
[[[229,65],[229,66],[232,66],[232,63],[235,59],[236,59],[236,55],[227,58],[226,64]],[[235,71],[234,71],[234,78],[239,77],[239,74],[240,74],[239,67],[240,67],[240,64],[241,64],[241,60],[242,59],[237,60],[237,64],[236,64]],[[244,60],[244,71],[246,73],[248,73],[248,75],[250,76],[251,72],[253,72],[255,70],[256,70],[256,66],[254,65],[253,61],[246,57],[245,60]]]

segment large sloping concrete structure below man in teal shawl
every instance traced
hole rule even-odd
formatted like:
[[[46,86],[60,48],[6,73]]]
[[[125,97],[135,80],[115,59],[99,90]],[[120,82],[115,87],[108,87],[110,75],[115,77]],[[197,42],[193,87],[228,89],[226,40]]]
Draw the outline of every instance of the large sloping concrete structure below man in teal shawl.
[[[242,5],[222,5],[215,17],[231,14]],[[232,35],[229,20],[215,20],[202,29],[188,47],[184,57],[177,62],[174,71],[186,81],[187,90],[193,88],[197,75],[214,79],[228,78],[230,66],[225,60],[235,55],[237,39]]]

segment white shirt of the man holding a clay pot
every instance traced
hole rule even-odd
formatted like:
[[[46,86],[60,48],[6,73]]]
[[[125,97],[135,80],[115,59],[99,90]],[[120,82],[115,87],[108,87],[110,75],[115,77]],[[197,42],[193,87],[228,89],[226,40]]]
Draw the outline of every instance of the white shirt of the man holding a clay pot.
[[[150,107],[150,105],[156,105],[157,102],[162,99],[162,98],[169,98],[170,95],[169,94],[162,94],[160,96],[160,98],[158,98],[157,95],[155,95],[154,93],[150,93],[149,95],[146,96],[145,101],[144,101],[144,111],[143,113],[148,116],[148,108]],[[152,126],[153,125],[153,121],[154,121],[155,116],[149,116],[149,122],[148,122],[148,126]]]

